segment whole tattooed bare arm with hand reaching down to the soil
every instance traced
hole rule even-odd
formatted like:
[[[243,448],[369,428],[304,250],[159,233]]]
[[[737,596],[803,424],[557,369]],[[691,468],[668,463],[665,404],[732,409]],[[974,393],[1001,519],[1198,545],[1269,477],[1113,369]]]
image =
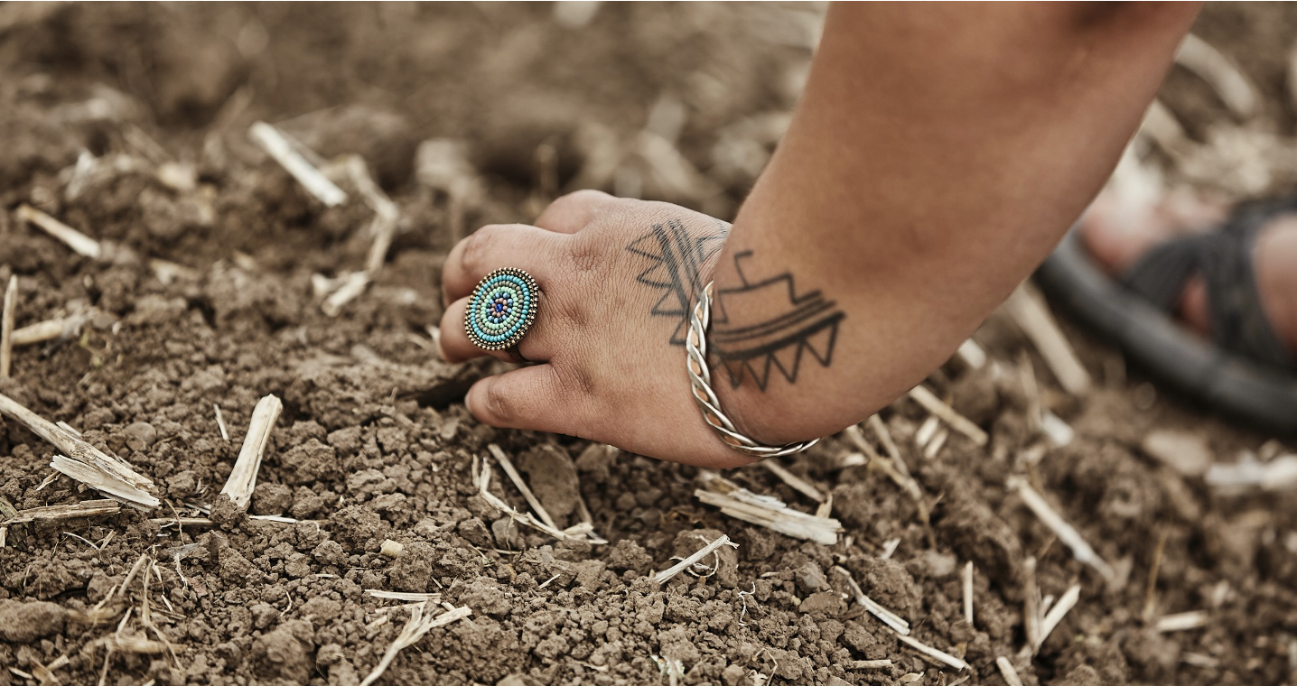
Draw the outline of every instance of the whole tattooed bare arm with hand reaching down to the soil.
[[[737,223],[581,192],[455,246],[442,350],[473,285],[519,267],[543,297],[484,379],[481,420],[643,455],[748,462],[689,394],[684,325],[715,279],[722,407],[767,442],[860,421],[940,364],[1112,171],[1197,5],[844,4]],[[507,353],[492,353],[508,358]]]

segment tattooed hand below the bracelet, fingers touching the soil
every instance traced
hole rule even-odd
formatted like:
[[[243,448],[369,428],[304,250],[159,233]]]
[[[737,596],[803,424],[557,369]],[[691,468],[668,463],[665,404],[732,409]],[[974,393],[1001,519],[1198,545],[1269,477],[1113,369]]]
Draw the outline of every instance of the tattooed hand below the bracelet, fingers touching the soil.
[[[703,421],[690,394],[684,337],[729,224],[665,202],[597,191],[564,196],[536,226],[492,224],[446,258],[441,354],[494,355],[464,333],[468,296],[492,270],[516,267],[541,288],[518,345],[534,364],[473,384],[468,410],[494,427],[580,436],[652,458],[733,467],[752,462]]]

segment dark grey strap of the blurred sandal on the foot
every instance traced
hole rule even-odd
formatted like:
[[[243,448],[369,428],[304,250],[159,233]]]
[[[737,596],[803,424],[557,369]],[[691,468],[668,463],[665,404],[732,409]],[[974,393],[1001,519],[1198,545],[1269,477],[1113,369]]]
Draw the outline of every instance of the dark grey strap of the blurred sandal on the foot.
[[[1122,283],[1156,307],[1174,313],[1188,280],[1201,274],[1213,342],[1267,367],[1294,368],[1293,354],[1266,318],[1257,288],[1257,235],[1294,201],[1240,207],[1220,231],[1167,240],[1148,250]]]

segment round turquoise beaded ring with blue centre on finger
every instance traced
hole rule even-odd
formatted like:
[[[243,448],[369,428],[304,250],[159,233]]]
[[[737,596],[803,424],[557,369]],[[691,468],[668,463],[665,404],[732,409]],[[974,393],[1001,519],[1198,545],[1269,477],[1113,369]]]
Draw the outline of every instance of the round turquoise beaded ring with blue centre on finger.
[[[482,350],[516,346],[536,322],[538,294],[536,279],[523,270],[505,267],[488,274],[464,311],[468,340]]]

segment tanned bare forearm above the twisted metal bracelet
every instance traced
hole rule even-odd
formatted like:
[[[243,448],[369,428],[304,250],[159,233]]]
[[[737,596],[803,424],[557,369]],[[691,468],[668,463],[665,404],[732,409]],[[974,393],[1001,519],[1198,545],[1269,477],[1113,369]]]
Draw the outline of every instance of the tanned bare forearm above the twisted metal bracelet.
[[[940,364],[1097,192],[1195,10],[834,5],[717,263],[741,424],[838,431]],[[822,298],[752,288],[782,275]]]

